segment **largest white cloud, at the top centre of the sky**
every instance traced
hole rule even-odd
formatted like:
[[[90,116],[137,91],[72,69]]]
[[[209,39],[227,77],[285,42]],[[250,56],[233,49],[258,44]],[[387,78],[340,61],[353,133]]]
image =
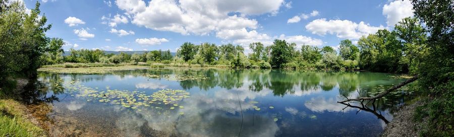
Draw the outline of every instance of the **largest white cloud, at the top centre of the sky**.
[[[283,0],[265,1],[191,1],[153,0],[147,2],[117,0],[119,9],[131,16],[132,23],[157,31],[183,35],[207,35],[223,29],[257,28],[257,21],[247,15],[274,13],[285,4]],[[241,14],[229,15],[230,13]],[[245,24],[244,24],[245,23]]]

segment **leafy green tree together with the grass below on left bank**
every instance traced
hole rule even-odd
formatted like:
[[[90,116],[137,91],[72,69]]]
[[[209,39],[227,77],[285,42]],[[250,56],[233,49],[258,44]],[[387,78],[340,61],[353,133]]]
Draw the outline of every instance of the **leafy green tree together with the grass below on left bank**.
[[[54,53],[62,49],[63,40],[45,36],[51,25],[46,25],[39,6],[37,2],[26,12],[23,3],[0,0],[0,136],[45,136],[15,93],[23,91],[16,89],[23,88],[17,79],[36,79],[43,55],[61,57]]]

